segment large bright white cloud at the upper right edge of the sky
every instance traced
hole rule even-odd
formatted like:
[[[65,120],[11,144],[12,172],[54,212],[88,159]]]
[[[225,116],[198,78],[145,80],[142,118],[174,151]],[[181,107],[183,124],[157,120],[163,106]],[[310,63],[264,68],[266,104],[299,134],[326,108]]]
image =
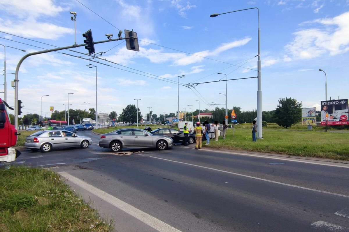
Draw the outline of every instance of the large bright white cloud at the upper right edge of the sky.
[[[323,28],[297,31],[285,50],[294,58],[310,59],[322,54],[337,55],[349,50],[349,11],[333,18],[315,19],[300,25],[317,23]]]

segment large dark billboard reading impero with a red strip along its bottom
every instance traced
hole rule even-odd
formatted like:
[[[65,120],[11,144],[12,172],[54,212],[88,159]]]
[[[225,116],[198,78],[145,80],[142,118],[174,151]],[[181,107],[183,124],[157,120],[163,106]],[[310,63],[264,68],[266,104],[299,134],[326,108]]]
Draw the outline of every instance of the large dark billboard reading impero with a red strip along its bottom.
[[[321,101],[321,125],[326,125],[326,109],[327,125],[349,125],[348,99]]]

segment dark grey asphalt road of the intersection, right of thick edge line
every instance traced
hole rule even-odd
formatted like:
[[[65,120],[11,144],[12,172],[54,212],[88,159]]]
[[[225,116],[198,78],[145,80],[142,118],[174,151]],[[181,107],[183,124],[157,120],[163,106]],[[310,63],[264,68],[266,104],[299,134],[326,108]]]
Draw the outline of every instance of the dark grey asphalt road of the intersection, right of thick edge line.
[[[22,151],[16,163],[59,166],[183,232],[349,231],[349,168],[336,163],[194,150],[193,145],[112,153],[97,145],[98,135],[78,134],[94,144]]]

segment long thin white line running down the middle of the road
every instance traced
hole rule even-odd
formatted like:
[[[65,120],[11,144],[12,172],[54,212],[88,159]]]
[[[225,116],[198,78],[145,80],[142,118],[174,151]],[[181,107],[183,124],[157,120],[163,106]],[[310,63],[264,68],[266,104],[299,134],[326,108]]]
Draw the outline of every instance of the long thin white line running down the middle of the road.
[[[164,158],[158,158],[158,157],[154,157],[154,156],[149,156],[149,157],[150,158],[155,158],[155,159],[160,159],[160,160],[166,160],[166,161],[170,161],[170,162],[174,162],[174,163],[182,163],[182,164],[185,164],[185,165],[190,165],[190,166],[199,167],[199,168],[206,168],[206,169],[210,169],[210,170],[214,170],[214,171],[220,171],[222,173],[229,173],[229,174],[233,174],[233,175],[237,175],[237,176],[243,176],[243,177],[248,177],[248,178],[252,178],[252,179],[258,179],[259,181],[266,181],[266,182],[270,182],[270,183],[274,183],[274,184],[281,184],[281,185],[285,185],[285,186],[295,187],[295,188],[298,188],[298,189],[305,189],[305,190],[310,190],[310,191],[321,192],[321,193],[326,193],[326,194],[331,194],[331,195],[336,195],[336,196],[340,196],[340,197],[349,198],[349,196],[347,196],[347,195],[342,195],[342,194],[338,194],[338,193],[332,193],[332,192],[327,192],[327,191],[322,191],[322,190],[317,190],[317,189],[310,189],[310,188],[307,188],[307,187],[302,187],[302,186],[293,185],[293,184],[286,184],[286,183],[277,182],[277,181],[271,181],[271,180],[268,180],[268,179],[262,179],[262,178],[254,177],[254,176],[247,176],[247,175],[243,175],[243,174],[239,174],[239,173],[233,173],[231,171],[224,171],[224,170],[220,170],[220,169],[215,169],[215,168],[209,168],[209,167],[205,167],[205,166],[195,165],[195,164],[192,164],[192,163],[184,163],[184,162],[180,162],[180,161],[169,160],[169,159],[164,159]]]

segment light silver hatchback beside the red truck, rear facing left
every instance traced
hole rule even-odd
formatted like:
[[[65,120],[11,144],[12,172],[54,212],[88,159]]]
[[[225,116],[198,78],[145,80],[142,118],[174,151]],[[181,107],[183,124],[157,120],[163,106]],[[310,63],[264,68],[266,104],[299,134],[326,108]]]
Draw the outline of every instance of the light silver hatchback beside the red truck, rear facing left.
[[[92,139],[76,135],[67,130],[42,130],[27,136],[24,146],[31,150],[49,152],[62,147],[87,148],[92,144]]]

